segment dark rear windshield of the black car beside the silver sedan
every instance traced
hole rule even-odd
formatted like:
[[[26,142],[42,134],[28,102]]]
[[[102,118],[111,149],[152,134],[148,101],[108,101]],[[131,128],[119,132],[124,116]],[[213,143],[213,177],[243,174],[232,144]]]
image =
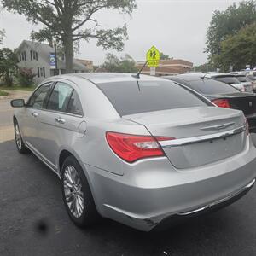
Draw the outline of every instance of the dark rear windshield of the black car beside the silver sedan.
[[[228,94],[238,92],[234,87],[229,84],[224,84],[213,79],[200,79],[197,81],[190,81],[189,85],[192,89],[202,94]]]

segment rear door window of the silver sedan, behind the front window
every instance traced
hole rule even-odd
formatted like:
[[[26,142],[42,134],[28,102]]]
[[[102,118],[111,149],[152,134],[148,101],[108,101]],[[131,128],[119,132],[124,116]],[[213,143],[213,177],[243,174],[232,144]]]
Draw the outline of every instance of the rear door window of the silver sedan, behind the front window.
[[[73,88],[70,85],[58,82],[55,84],[55,88],[49,96],[47,108],[50,110],[65,112],[72,93]]]

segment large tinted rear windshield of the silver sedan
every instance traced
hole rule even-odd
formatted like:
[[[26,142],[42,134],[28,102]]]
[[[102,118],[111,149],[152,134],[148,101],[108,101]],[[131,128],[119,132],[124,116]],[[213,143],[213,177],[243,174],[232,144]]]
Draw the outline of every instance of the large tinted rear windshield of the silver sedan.
[[[120,116],[172,108],[207,106],[193,92],[171,81],[131,81],[97,84]]]

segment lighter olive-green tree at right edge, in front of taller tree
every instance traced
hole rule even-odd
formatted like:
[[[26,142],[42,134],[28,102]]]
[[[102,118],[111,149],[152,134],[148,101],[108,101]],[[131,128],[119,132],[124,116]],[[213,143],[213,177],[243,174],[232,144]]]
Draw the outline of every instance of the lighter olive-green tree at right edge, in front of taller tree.
[[[256,66],[256,22],[241,28],[233,36],[229,36],[221,43],[221,51],[215,62],[223,71],[245,68],[246,65]]]

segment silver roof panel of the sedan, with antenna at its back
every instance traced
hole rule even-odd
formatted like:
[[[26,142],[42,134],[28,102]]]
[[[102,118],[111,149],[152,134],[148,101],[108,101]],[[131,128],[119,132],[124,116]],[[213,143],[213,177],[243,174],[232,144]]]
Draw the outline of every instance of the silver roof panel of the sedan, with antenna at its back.
[[[140,78],[137,79],[134,77],[134,73],[69,73],[65,75],[59,75],[56,78],[58,79],[71,79],[71,78],[83,78],[90,80],[94,84],[102,84],[109,82],[121,82],[121,81],[166,81],[166,79],[161,79],[159,77],[149,76],[149,75],[140,75]]]

